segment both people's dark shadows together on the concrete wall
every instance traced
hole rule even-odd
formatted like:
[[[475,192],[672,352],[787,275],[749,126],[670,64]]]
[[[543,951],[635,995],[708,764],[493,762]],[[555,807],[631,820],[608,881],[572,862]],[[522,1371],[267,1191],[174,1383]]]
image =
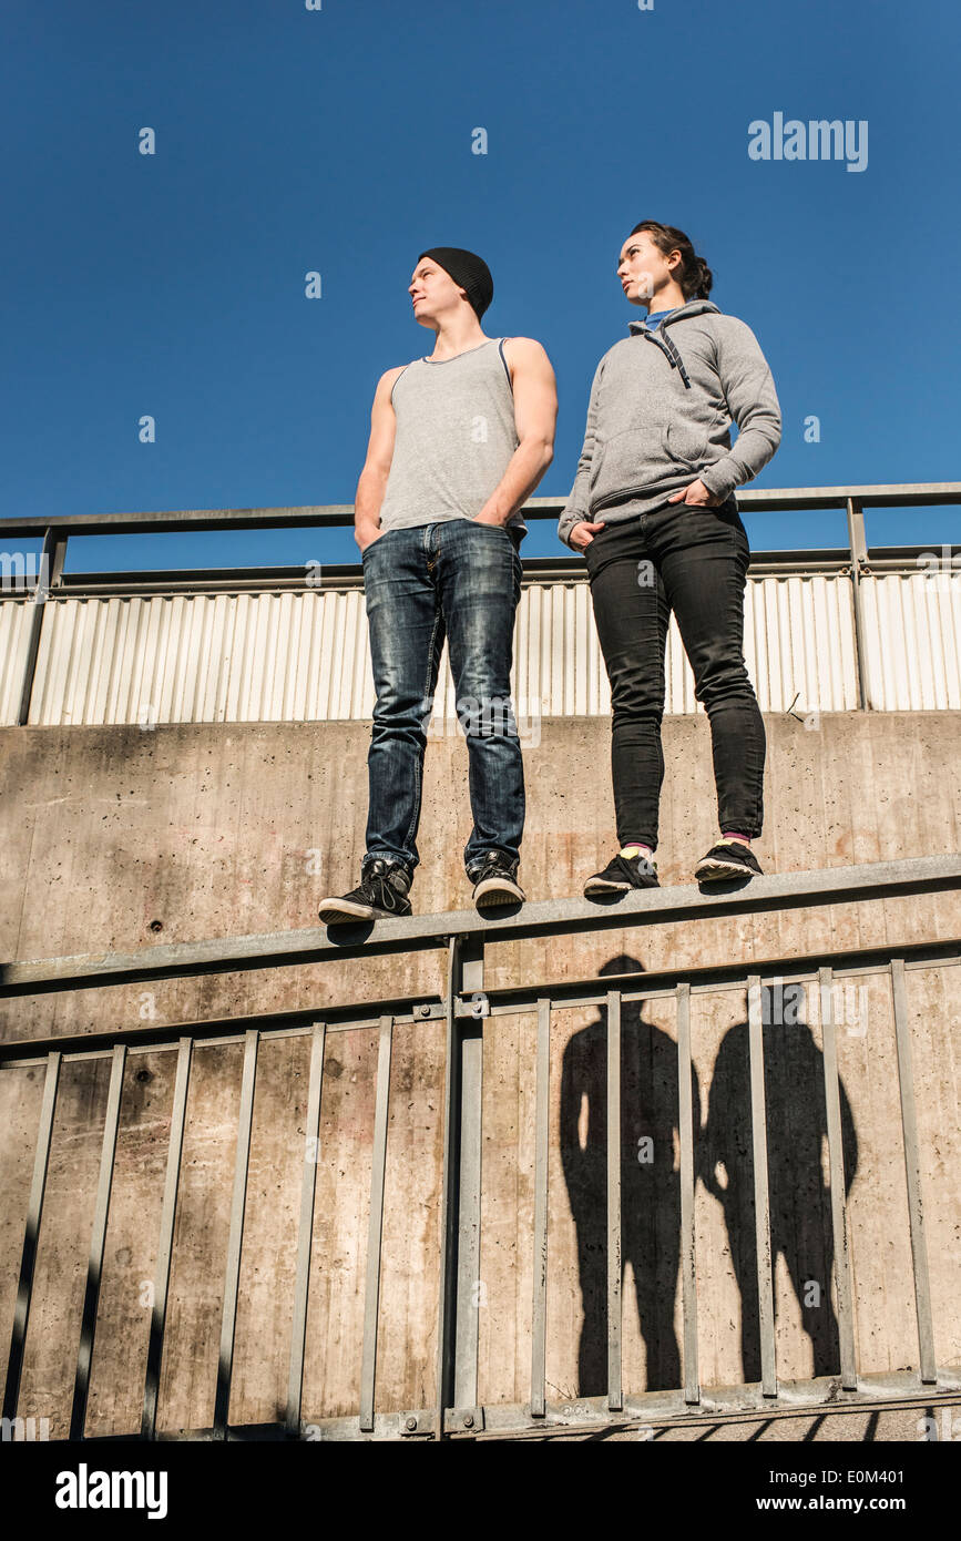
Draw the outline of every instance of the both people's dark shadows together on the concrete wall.
[[[630,955],[610,959],[599,975],[642,972]],[[785,992],[787,1000],[787,992]],[[779,1016],[782,1020],[775,1020]],[[824,1057],[804,1016],[772,1006],[762,989],[767,1099],[772,1267],[782,1253],[804,1330],[813,1375],[839,1368],[838,1324],[830,1279],[833,1236],[830,1191],[822,1173],[827,1139]],[[707,1122],[699,1125],[698,1074],[691,1066],[695,1170],[721,1202],[741,1291],[744,1381],[761,1379],[755,1194],[750,1125],[748,1025],[724,1036],[713,1066]],[[858,1165],[853,1117],[841,1085],[845,1183]],[[607,1011],[574,1032],[564,1051],[561,1082],[561,1160],[578,1233],[584,1325],[579,1345],[579,1396],[607,1390]],[[647,1390],[682,1384],[675,1333],[681,1261],[681,1177],[678,1140],[678,1045],[645,1022],[636,1002],[621,1005],[621,1248],[631,1265],[641,1333],[647,1350]],[[627,1308],[625,1298],[625,1308]]]

